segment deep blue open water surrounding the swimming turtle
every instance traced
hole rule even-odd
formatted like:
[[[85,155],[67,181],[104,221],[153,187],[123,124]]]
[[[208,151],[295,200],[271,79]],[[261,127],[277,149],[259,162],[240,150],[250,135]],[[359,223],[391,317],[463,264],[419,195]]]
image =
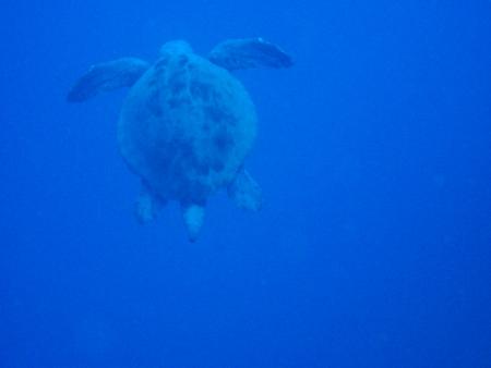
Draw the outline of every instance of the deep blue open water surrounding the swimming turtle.
[[[491,367],[491,3],[4,0],[0,367]],[[94,62],[262,36],[264,208],[142,226]]]

